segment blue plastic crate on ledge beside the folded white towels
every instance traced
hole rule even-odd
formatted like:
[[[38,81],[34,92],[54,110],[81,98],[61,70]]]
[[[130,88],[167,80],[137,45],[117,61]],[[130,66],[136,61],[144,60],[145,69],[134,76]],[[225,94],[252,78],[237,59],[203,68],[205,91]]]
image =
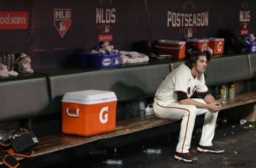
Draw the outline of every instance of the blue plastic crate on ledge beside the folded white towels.
[[[90,54],[78,53],[80,65],[92,68],[108,68],[119,66],[121,54]]]

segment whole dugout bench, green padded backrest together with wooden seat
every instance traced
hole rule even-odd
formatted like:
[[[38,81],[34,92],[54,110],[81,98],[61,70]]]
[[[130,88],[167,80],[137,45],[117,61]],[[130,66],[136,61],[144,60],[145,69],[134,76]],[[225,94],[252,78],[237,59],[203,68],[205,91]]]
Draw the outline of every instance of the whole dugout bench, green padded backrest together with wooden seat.
[[[26,120],[28,127],[35,132],[48,125],[52,116],[54,116],[53,120],[59,121],[55,124],[59,132],[51,133],[51,130],[46,129],[44,133],[38,134],[39,144],[34,147],[34,157],[170,124],[173,121],[158,119],[154,115],[142,118],[137,113],[124,110],[123,104],[131,100],[153,97],[165,75],[181,63],[183,61],[155,60],[150,63],[106,69],[43,69],[35,70],[34,74],[25,77],[19,75],[18,78],[1,78],[0,86],[4,88],[1,89],[4,93],[1,99],[5,98],[5,101],[0,105],[5,113],[2,111],[3,116],[0,121]],[[219,96],[221,85],[235,83],[235,101],[223,105],[222,110],[243,105],[252,106],[252,111],[243,117],[248,121],[256,120],[255,65],[256,54],[224,55],[212,58],[206,70],[206,82],[210,93],[215,97]],[[29,88],[29,91],[20,88]],[[60,132],[62,96],[66,92],[87,89],[115,92],[118,99],[115,131],[91,137],[63,135]],[[15,90],[12,95],[9,95],[10,90]],[[13,102],[11,109],[8,108],[10,100]],[[31,107],[28,107],[28,111],[25,106],[29,105]],[[17,158],[23,159],[23,157]]]

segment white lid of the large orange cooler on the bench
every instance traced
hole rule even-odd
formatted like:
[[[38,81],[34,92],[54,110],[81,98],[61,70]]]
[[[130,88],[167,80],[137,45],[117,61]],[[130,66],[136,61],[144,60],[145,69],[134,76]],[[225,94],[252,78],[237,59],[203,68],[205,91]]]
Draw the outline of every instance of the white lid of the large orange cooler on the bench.
[[[82,90],[65,93],[61,102],[78,104],[98,104],[116,101],[113,91]]]

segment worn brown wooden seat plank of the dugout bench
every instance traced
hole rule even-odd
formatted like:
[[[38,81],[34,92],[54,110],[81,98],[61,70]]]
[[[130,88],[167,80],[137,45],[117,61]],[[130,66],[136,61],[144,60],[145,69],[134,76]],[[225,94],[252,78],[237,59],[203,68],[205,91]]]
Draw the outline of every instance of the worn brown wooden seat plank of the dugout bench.
[[[228,104],[223,105],[222,110],[254,102],[256,102],[256,91],[246,94],[239,94],[235,96],[234,102],[228,102]],[[169,124],[172,122],[172,120],[158,119],[156,116],[154,116],[154,114],[151,114],[146,117],[134,117],[129,120],[118,121],[116,123],[115,131],[102,133],[100,135],[81,137],[59,134],[38,137],[39,144],[34,147],[35,153],[33,157],[51,152],[57,152],[58,150],[66,148],[76,147],[100,139],[122,136],[129,133],[158,127],[160,125]],[[17,159],[21,160],[23,157],[17,157]],[[0,164],[2,163],[0,162]]]

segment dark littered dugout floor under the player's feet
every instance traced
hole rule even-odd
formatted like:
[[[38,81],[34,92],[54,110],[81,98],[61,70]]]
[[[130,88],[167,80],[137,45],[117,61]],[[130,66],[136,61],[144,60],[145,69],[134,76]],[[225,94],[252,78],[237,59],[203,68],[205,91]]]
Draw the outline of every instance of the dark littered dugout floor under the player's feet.
[[[179,133],[175,131],[164,136],[118,147],[116,152],[113,148],[106,148],[106,154],[73,158],[72,152],[66,152],[69,153],[69,157],[58,160],[54,158],[60,155],[60,153],[57,153],[53,156],[38,159],[39,162],[32,162],[31,167],[256,167],[256,122],[247,122],[241,125],[239,121],[227,121],[226,123],[224,121],[222,120],[222,122],[218,123],[213,141],[215,146],[226,150],[223,154],[202,154],[196,151],[201,136],[201,125],[196,125],[190,149],[193,155],[198,156],[198,162],[194,164],[174,159],[173,156]],[[255,127],[249,127],[249,125]],[[146,148],[162,149],[162,154],[145,154],[143,150]],[[80,153],[83,153],[83,150]],[[121,159],[123,165],[105,165],[102,162],[106,159]],[[54,160],[56,162],[52,162]]]

